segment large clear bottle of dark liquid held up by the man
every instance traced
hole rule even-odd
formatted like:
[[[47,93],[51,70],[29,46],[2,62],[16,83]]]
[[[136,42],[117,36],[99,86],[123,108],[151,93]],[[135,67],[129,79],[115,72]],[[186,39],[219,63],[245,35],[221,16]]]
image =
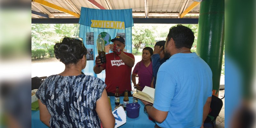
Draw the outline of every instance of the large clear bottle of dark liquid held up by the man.
[[[104,39],[101,38],[101,36],[98,36],[97,39],[97,50],[98,55],[101,63],[106,63],[106,52],[105,52],[105,42]]]

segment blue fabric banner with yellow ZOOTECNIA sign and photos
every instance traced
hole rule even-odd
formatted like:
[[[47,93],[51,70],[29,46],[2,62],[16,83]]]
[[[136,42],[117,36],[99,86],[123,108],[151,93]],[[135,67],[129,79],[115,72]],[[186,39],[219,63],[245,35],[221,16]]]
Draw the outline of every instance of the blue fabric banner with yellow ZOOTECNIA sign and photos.
[[[105,81],[105,70],[100,74],[93,72],[95,58],[98,56],[96,45],[98,35],[102,34],[102,32],[107,32],[111,39],[116,36],[124,37],[124,51],[132,53],[132,9],[100,10],[82,7],[79,24],[79,37],[83,38],[84,45],[89,54],[87,55],[86,68],[82,71],[86,75],[96,76]],[[109,40],[106,45],[109,43],[113,44]]]

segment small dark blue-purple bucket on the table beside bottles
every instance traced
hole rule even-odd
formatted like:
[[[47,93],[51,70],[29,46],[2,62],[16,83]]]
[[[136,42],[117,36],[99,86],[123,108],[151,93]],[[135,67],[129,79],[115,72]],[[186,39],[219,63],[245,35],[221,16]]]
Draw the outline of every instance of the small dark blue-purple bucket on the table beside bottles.
[[[137,118],[140,114],[140,104],[138,103],[129,103],[126,104],[126,115],[129,118]]]

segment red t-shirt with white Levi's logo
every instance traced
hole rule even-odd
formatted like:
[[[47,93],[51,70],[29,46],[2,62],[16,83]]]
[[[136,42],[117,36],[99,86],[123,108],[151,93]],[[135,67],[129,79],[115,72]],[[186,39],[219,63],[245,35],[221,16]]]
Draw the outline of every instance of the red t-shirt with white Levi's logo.
[[[134,60],[132,53],[124,52],[124,54]],[[114,52],[106,54],[106,60],[106,64],[101,65],[106,70],[106,91],[116,93],[116,86],[119,87],[120,94],[124,93],[125,90],[132,91],[132,67],[124,64],[123,60]]]

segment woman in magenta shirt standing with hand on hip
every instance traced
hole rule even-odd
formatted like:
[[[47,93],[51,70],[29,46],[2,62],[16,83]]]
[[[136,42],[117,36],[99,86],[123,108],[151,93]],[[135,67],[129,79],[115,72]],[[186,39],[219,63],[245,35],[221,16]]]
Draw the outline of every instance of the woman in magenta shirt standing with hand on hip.
[[[152,60],[153,49],[145,47],[142,50],[142,60],[138,62],[132,71],[132,83],[138,90],[142,91],[145,86],[150,87],[152,82]],[[139,82],[136,84],[136,75],[139,76]]]

